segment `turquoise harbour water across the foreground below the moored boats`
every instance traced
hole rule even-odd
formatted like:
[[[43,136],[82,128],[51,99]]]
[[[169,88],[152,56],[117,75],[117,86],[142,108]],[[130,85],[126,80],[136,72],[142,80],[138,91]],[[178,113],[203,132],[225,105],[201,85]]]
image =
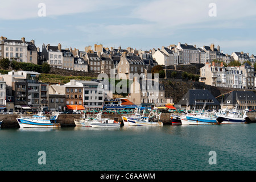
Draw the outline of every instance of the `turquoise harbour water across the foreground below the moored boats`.
[[[255,123],[0,129],[0,170],[254,171],[255,131]],[[46,164],[38,163],[39,151]]]

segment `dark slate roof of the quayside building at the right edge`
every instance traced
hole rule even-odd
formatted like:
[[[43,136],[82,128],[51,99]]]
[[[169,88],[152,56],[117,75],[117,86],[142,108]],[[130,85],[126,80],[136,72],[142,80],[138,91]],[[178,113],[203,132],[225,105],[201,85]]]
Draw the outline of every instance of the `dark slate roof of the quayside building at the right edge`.
[[[235,105],[238,101],[256,101],[256,95],[251,91],[233,91],[223,102],[223,105]],[[228,103],[230,101],[230,103]]]

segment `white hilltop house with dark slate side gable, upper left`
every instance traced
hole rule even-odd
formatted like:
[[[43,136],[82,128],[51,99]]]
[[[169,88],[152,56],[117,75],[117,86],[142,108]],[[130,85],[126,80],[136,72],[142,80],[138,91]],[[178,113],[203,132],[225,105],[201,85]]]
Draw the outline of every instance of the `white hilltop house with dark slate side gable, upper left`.
[[[63,53],[61,44],[51,46],[50,44],[42,46],[42,57],[53,68],[63,68]]]

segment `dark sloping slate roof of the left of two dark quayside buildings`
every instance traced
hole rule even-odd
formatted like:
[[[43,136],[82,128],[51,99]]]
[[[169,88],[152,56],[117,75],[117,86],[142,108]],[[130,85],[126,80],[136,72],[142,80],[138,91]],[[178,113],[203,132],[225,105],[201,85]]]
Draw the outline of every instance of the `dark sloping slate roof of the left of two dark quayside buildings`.
[[[207,105],[220,105],[220,102],[209,92],[209,90],[188,90],[188,92],[177,103],[178,105],[195,105],[195,100],[213,100],[207,102]],[[196,102],[196,105],[204,105],[205,102]]]

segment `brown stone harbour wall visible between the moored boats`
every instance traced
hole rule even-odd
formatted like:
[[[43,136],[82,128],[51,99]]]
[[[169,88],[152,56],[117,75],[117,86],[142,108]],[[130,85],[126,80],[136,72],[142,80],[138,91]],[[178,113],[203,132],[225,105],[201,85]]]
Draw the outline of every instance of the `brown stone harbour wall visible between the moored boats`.
[[[164,125],[170,125],[170,115],[174,113],[162,113],[160,120]],[[115,121],[122,122],[122,115],[124,114],[102,114],[102,118],[115,119]],[[129,114],[128,114],[129,115]],[[131,115],[131,114],[130,114]],[[180,113],[175,113],[174,115],[181,115]],[[247,116],[250,118],[251,122],[256,122],[255,117],[256,113],[247,113]],[[0,115],[0,121],[3,120],[2,129],[5,128],[19,128],[19,124],[16,121],[18,115],[16,114],[2,114]],[[60,123],[61,127],[75,127],[74,119],[79,119],[81,114],[60,114],[57,122]]]

